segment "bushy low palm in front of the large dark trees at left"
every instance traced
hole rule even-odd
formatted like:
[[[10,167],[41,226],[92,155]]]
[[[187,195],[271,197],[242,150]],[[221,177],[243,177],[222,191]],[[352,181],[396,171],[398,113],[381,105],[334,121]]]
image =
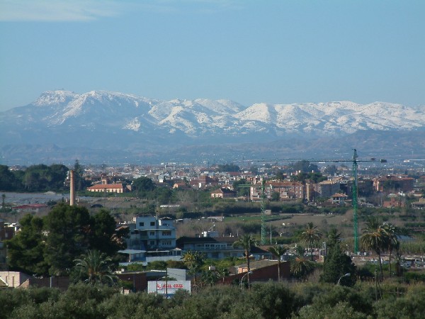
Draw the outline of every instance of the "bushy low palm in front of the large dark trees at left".
[[[111,269],[111,258],[98,250],[89,250],[74,262],[80,278],[89,284],[113,284],[117,278]]]

